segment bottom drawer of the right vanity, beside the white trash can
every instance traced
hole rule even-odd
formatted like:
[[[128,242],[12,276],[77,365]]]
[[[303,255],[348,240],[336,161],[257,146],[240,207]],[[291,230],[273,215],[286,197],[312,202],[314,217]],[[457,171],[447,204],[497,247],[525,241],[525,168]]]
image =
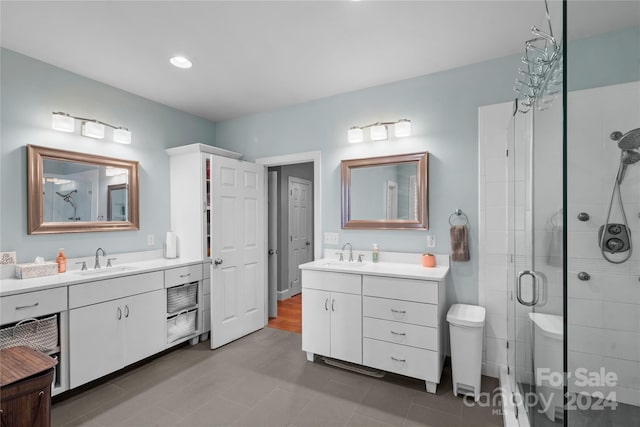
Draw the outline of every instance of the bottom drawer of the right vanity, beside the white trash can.
[[[362,340],[362,364],[388,372],[440,382],[438,352],[378,341]]]

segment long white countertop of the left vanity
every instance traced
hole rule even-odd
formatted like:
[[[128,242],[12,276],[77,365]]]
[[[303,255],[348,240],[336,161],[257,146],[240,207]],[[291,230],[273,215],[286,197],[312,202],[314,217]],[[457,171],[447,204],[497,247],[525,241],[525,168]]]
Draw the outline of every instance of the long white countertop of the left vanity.
[[[115,264],[113,270],[103,267],[98,274],[83,275],[79,269],[67,270],[66,273],[52,276],[35,277],[32,279],[6,278],[0,279],[0,297],[21,294],[25,292],[39,291],[42,289],[59,288],[62,286],[77,285],[80,283],[94,282],[96,280],[112,279],[114,277],[130,276],[134,274],[149,273],[151,271],[166,270],[168,268],[183,267],[193,264],[201,264],[206,261],[185,258],[155,258],[137,262]],[[126,267],[121,269],[118,267]],[[86,273],[86,272],[84,272]]]

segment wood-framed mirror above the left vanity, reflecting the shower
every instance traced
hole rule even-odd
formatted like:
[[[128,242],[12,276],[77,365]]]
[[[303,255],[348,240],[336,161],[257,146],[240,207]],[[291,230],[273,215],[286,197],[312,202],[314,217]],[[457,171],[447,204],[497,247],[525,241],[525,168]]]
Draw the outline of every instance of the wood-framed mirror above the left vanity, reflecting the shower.
[[[137,161],[27,145],[28,234],[138,230],[138,175]]]

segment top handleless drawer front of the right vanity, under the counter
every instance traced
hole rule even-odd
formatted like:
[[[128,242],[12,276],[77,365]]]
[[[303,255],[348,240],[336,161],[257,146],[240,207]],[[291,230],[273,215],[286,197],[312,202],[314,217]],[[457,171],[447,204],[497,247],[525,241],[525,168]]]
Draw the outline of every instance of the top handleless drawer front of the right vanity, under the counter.
[[[438,282],[382,276],[364,276],[362,278],[362,294],[372,297],[395,298],[437,304]]]

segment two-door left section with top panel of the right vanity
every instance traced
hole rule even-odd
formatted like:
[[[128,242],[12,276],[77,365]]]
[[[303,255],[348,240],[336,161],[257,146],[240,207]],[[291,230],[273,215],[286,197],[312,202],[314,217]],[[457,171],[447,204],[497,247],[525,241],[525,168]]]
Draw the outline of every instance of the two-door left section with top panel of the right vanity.
[[[362,279],[302,271],[302,350],[362,363]]]

